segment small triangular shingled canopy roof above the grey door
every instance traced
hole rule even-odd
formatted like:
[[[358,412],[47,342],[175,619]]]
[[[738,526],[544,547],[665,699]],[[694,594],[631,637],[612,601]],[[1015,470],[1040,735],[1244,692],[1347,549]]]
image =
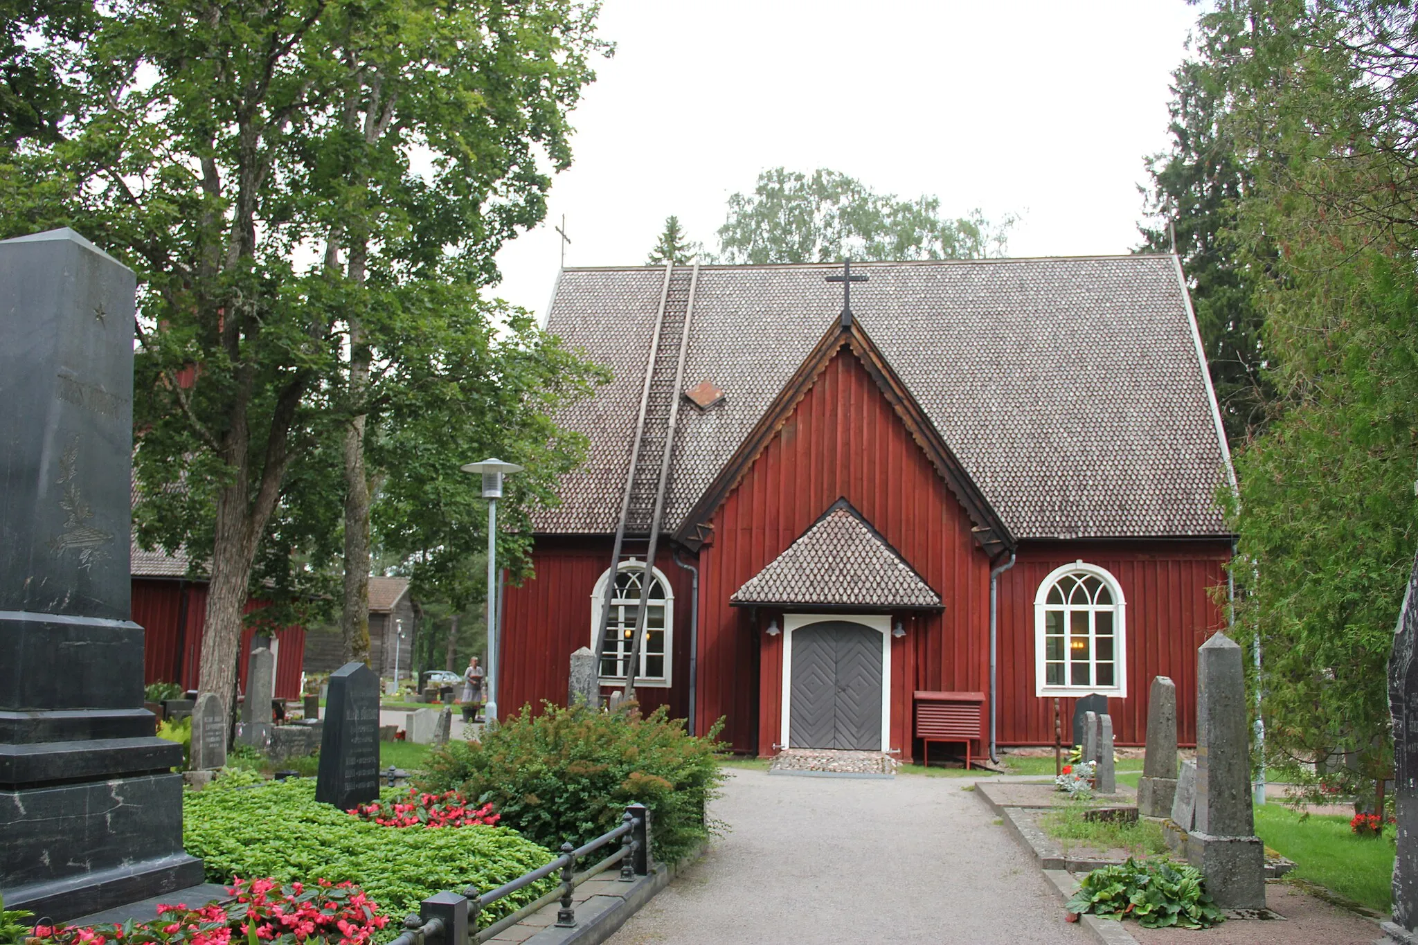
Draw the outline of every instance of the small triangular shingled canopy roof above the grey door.
[[[940,606],[940,595],[845,499],[744,581],[729,601],[777,606]]]

